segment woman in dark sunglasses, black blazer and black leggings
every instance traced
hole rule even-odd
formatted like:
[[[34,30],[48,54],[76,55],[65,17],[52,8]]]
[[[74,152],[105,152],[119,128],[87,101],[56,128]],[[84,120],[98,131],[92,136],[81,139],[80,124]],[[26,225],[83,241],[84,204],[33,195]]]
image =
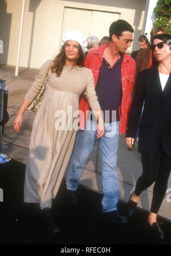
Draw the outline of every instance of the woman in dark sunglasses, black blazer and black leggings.
[[[153,67],[141,71],[137,77],[125,138],[132,149],[144,102],[139,130],[143,174],[129,199],[128,215],[135,213],[141,192],[154,182],[152,205],[146,223],[154,235],[163,239],[157,213],[166,193],[171,169],[171,35],[155,35],[152,52]]]

